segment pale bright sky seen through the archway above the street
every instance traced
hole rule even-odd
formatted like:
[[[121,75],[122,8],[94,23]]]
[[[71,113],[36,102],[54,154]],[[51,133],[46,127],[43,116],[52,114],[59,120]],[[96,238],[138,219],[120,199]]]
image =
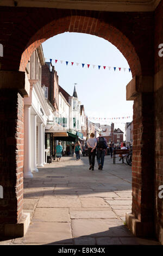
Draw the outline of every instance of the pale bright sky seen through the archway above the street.
[[[101,124],[110,125],[113,121],[115,128],[119,127],[124,132],[122,123],[131,121],[132,118],[108,119],[133,115],[133,101],[126,101],[126,86],[132,76],[122,53],[107,40],[83,33],[58,34],[43,42],[42,47],[46,62],[52,59],[60,86],[72,95],[74,83],[77,83],[78,99],[84,105],[86,115],[106,118]],[[55,59],[58,59],[57,63]],[[60,60],[64,62],[61,64]],[[71,62],[74,62],[73,66]],[[79,66],[76,63],[80,63]],[[84,68],[82,63],[85,63]],[[89,69],[87,64],[90,64]],[[93,64],[97,65],[95,69]],[[100,69],[98,65],[101,65]],[[107,67],[104,70],[103,66],[117,68],[116,71],[114,68],[109,71]],[[119,71],[119,67],[127,70]]]

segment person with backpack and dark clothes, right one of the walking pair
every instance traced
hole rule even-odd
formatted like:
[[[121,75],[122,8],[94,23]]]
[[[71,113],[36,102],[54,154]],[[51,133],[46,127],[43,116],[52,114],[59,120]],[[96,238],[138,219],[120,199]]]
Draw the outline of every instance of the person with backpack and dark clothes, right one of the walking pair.
[[[104,157],[105,157],[106,148],[107,148],[106,139],[102,137],[101,133],[99,133],[99,137],[97,138],[97,163],[98,163],[99,170],[102,170],[104,166]]]

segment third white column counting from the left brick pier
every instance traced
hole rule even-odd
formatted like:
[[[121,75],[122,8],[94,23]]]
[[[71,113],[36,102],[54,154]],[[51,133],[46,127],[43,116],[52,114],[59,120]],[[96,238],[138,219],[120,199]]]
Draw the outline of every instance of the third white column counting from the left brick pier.
[[[43,167],[43,123],[38,123],[38,167]]]

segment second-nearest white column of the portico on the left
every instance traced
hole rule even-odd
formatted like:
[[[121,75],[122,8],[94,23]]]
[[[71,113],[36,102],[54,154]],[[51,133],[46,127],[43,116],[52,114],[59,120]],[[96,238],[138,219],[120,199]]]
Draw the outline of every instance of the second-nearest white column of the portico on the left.
[[[36,123],[37,123],[37,115],[31,114],[30,115],[30,128],[31,128],[31,135],[30,135],[30,156],[31,156],[31,171],[32,172],[39,172],[37,169],[37,162],[36,162]]]

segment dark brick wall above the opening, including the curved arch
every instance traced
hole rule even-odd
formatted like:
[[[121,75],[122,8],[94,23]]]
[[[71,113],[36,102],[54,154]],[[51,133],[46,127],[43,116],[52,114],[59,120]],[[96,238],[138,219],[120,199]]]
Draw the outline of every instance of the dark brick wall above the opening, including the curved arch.
[[[128,60],[133,76],[141,71],[149,75],[153,70],[153,13],[108,14],[9,7],[2,7],[0,12],[2,27],[12,24],[1,32],[0,42],[4,45],[5,56],[3,70],[24,70],[30,55],[41,42],[66,31],[97,35],[110,41]]]

